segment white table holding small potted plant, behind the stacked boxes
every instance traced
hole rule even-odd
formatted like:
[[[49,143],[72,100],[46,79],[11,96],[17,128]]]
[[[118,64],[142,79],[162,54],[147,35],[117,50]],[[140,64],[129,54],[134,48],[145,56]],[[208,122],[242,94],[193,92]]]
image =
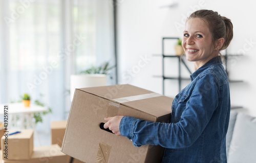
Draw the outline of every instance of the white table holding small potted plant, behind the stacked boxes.
[[[36,112],[47,111],[47,108],[39,105],[34,105],[34,104],[30,104],[29,107],[25,107],[23,103],[10,103],[7,105],[8,105],[8,128],[7,129],[9,130],[12,123],[14,124],[14,126],[17,126],[17,122],[16,122],[17,116],[20,117],[20,122],[21,122],[20,129],[24,129],[25,128],[24,121],[26,119],[27,120],[26,122],[28,122],[29,126],[32,126],[39,145],[41,145],[36,128],[35,128],[35,121],[33,119],[33,116],[34,116],[34,113]],[[1,110],[0,116],[2,116],[3,119],[4,119],[4,106],[5,104],[0,104],[0,110]],[[11,121],[12,120],[11,116],[14,116],[13,122]]]

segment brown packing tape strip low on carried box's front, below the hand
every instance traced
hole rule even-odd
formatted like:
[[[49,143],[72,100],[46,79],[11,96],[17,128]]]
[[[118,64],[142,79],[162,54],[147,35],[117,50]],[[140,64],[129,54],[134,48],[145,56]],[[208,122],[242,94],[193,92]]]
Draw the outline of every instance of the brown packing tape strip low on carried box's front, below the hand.
[[[111,146],[105,143],[99,143],[96,163],[108,163],[110,157]]]

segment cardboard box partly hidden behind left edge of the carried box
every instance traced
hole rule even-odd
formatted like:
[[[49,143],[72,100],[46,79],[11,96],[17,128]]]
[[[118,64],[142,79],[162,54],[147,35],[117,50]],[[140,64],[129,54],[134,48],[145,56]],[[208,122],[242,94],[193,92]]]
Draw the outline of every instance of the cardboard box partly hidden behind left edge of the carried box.
[[[66,131],[68,121],[53,121],[51,122],[51,132],[52,132],[52,144],[57,144],[60,147],[62,146],[63,138]],[[67,157],[67,163],[70,163],[71,157]],[[82,163],[77,159],[73,159],[72,163]]]

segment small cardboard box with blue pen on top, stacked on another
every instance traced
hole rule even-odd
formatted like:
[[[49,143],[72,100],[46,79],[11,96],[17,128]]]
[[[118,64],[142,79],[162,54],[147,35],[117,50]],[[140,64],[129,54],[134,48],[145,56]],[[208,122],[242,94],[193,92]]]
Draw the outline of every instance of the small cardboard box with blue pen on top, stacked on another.
[[[5,133],[1,138],[3,159],[29,159],[34,147],[34,131],[32,129],[24,129],[20,133],[9,135],[11,132],[14,132],[14,130],[6,132],[8,136]],[[8,157],[5,157],[7,155]]]

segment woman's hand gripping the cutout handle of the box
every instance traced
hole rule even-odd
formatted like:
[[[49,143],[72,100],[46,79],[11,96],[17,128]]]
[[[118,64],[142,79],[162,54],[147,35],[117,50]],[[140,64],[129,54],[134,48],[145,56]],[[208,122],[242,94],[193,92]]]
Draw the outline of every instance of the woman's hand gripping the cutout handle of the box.
[[[119,124],[123,116],[115,116],[115,117],[106,117],[104,120],[106,123],[104,124],[104,128],[109,128],[114,134],[120,136]]]

